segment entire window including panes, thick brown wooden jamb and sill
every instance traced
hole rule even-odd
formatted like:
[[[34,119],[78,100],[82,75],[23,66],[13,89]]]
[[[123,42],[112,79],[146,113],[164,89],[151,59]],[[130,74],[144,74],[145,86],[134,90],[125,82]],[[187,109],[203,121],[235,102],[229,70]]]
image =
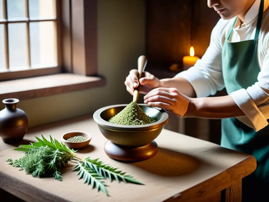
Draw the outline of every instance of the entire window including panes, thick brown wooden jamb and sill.
[[[0,0],[0,101],[105,85],[97,0]]]

